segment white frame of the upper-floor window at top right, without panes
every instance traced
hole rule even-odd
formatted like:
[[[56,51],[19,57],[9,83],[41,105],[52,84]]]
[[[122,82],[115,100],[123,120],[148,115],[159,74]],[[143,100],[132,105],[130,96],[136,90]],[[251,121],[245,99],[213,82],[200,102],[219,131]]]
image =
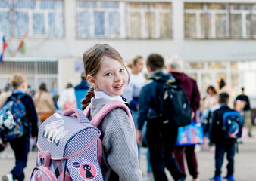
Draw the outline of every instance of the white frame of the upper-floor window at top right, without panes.
[[[202,9],[186,9],[185,4],[201,4],[203,6]],[[226,5],[226,9],[210,9],[209,5],[211,4],[219,4],[219,5]],[[232,5],[249,5],[249,10],[239,9],[239,10],[233,10],[230,7]],[[254,26],[254,23],[256,23],[256,8],[254,8],[256,4],[252,3],[224,3],[224,2],[184,2],[184,38],[185,39],[251,39],[256,38],[256,26]],[[246,12],[247,11],[247,12]],[[186,14],[195,14],[195,29],[196,29],[196,35],[186,35],[187,29],[186,29]],[[198,17],[197,14],[204,14],[204,16],[207,16],[208,14],[211,14],[211,22],[207,22],[204,17],[204,22],[201,23],[200,17]],[[226,35],[222,37],[217,36],[217,23],[216,23],[216,15],[217,14],[226,14]],[[242,17],[242,34],[235,36],[232,35],[233,29],[232,29],[232,21],[231,16],[233,14],[241,14]],[[250,29],[249,29],[249,35],[247,35],[247,19],[246,16],[250,15]],[[201,24],[205,24],[204,32],[201,32],[200,26]],[[209,33],[208,29],[211,29],[211,34]]]

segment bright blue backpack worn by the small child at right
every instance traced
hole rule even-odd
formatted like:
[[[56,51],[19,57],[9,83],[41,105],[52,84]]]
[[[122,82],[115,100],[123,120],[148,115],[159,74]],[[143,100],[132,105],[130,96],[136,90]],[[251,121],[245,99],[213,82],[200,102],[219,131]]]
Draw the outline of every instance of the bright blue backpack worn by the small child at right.
[[[224,112],[222,120],[222,130],[225,132],[226,138],[234,138],[230,136],[230,134],[233,134],[235,138],[239,138],[242,136],[242,118],[239,112]]]

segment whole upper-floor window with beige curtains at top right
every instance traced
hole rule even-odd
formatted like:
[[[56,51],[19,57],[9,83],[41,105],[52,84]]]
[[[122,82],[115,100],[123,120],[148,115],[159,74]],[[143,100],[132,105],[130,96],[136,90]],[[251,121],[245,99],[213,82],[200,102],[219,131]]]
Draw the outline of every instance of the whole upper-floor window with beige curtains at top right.
[[[256,38],[256,5],[185,3],[186,38]]]

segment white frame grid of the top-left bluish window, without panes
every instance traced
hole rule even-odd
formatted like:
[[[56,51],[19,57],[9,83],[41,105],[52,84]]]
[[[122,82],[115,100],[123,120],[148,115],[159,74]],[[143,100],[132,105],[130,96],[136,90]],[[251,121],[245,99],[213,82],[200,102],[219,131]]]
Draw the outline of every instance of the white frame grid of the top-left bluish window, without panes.
[[[60,8],[55,8],[55,9],[41,9],[39,8],[39,3],[44,1],[44,0],[34,0],[36,2],[35,8],[0,8],[1,12],[9,12],[10,13],[10,26],[11,26],[11,35],[7,33],[7,36],[14,36],[14,37],[21,37],[25,35],[27,32],[28,36],[33,36],[33,37],[55,37],[55,35],[50,35],[49,32],[49,27],[48,27],[48,14],[49,13],[54,13],[55,17],[61,17],[61,23],[55,23],[55,26],[57,29],[61,30],[60,35],[58,37],[63,37],[64,36],[64,14],[63,14],[63,0],[56,0],[56,2],[61,2],[61,7]],[[55,1],[55,0],[52,0]],[[10,5],[14,5],[14,0],[10,0]],[[24,32],[22,35],[16,35],[14,32],[15,29],[15,23],[14,23],[14,13],[27,13],[28,14],[28,29],[26,32]],[[45,33],[42,34],[35,34],[33,31],[33,14],[43,14],[44,17],[44,27],[45,27]],[[56,16],[57,15],[57,16]],[[57,20],[58,21],[58,20]],[[61,27],[62,26],[62,27]]]

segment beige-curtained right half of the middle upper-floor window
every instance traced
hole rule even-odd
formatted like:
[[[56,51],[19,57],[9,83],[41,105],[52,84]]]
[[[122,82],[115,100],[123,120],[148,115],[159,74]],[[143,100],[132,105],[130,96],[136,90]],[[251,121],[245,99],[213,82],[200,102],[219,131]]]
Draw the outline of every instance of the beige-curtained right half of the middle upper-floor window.
[[[171,5],[168,2],[130,2],[129,38],[170,38]]]

